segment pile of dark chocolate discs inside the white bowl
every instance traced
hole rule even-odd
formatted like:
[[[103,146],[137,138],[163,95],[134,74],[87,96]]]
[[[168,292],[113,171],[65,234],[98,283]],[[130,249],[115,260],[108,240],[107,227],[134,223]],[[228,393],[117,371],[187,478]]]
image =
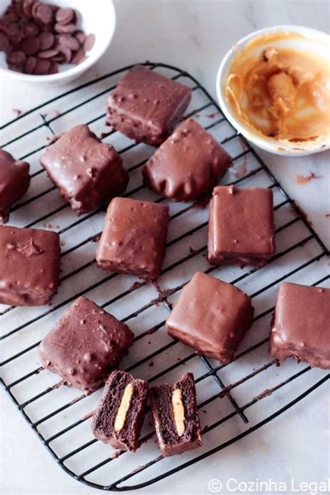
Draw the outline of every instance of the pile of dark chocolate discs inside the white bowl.
[[[38,0],[11,0],[0,18],[0,51],[8,68],[24,74],[56,74],[58,64],[86,59],[95,36],[77,29],[79,16]]]

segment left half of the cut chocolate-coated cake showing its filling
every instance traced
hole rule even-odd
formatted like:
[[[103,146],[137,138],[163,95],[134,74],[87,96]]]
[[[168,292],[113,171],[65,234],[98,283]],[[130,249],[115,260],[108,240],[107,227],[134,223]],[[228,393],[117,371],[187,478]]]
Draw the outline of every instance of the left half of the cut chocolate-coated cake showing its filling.
[[[136,450],[148,400],[148,382],[113,371],[93,414],[94,436],[120,450]]]

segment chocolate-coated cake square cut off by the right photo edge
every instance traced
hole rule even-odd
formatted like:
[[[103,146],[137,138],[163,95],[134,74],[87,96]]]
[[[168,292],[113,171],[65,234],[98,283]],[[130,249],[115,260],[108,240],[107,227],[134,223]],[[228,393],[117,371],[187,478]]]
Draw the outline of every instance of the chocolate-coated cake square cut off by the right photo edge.
[[[330,369],[330,289],[281,283],[270,334],[270,354]]]

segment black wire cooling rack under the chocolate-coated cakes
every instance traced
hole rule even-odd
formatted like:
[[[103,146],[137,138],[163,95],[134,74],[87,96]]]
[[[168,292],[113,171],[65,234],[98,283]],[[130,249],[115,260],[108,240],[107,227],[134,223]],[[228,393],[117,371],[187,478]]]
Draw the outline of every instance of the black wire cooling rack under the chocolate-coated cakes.
[[[322,240],[304,212],[194,77],[171,65],[143,65],[191,86],[193,97],[184,117],[194,116],[233,156],[233,168],[221,183],[238,187],[260,185],[273,190],[277,252],[262,268],[210,267],[205,260],[207,207],[168,203],[171,222],[166,259],[157,286],[136,281],[132,276],[105,274],[95,266],[94,242],[102,230],[106,205],[75,217],[47,178],[39,157],[47,146],[47,137],[86,123],[123,155],[129,171],[125,196],[166,202],[141,182],[141,167],[153,148],[104,127],[105,97],[132,66],[73,88],[3,125],[7,141],[2,147],[15,157],[28,160],[32,172],[29,193],[13,207],[10,224],[56,230],[61,235],[62,274],[61,288],[51,306],[3,306],[2,311],[0,308],[1,384],[64,471],[90,487],[109,491],[146,487],[219,453],[283,414],[330,377],[306,363],[285,361],[278,367],[268,354],[270,318],[278,283],[290,280],[329,286],[328,253]],[[171,303],[197,269],[237,285],[253,299],[253,327],[227,365],[197,356],[189,347],[172,340],[164,327]],[[127,322],[134,331],[134,347],[121,368],[150,383],[174,382],[184,371],[194,372],[203,426],[201,449],[162,457],[152,438],[148,415],[143,444],[134,454],[113,453],[109,446],[94,439],[88,419],[100,391],[77,395],[77,390],[61,386],[56,375],[42,370],[37,354],[40,340],[68,304],[81,294]]]

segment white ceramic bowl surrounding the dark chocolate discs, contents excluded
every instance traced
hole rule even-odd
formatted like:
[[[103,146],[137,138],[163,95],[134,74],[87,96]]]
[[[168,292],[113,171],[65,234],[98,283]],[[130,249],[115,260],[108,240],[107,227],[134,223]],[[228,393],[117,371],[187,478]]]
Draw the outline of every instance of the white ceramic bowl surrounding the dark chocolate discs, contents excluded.
[[[78,65],[58,65],[61,72],[47,76],[21,74],[9,70],[6,54],[0,52],[0,77],[10,77],[15,81],[33,84],[59,85],[66,84],[81,76],[92,67],[109,47],[116,28],[116,12],[112,0],[42,0],[43,3],[56,3],[60,7],[75,8],[79,11],[80,22],[78,29],[84,29],[86,34],[95,34],[95,44],[86,60]],[[1,0],[0,15],[3,14],[10,0]]]

